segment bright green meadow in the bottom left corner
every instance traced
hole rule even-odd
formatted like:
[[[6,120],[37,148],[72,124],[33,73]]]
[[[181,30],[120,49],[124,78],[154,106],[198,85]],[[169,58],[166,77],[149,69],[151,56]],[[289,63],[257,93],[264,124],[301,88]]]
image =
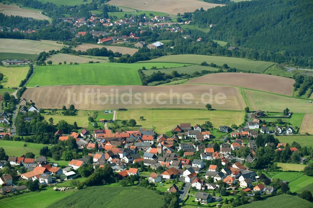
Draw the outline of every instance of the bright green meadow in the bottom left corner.
[[[54,191],[53,187],[41,189],[41,191],[23,193],[18,196],[11,196],[0,200],[0,207],[24,208],[36,207],[44,208],[54,204],[56,201],[74,193],[74,190]],[[43,200],[44,199],[44,200]]]

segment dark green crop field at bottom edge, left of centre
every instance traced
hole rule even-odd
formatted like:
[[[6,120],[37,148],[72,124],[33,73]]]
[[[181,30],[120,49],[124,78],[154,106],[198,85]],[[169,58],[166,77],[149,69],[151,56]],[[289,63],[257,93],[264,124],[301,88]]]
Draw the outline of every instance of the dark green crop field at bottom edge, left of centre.
[[[101,193],[101,197],[99,197]],[[89,200],[84,197],[88,196]],[[131,196],[133,200],[120,200]],[[153,200],[151,200],[153,199]],[[136,186],[93,186],[76,191],[74,194],[57,201],[49,207],[156,207],[163,205],[162,195],[143,187]]]

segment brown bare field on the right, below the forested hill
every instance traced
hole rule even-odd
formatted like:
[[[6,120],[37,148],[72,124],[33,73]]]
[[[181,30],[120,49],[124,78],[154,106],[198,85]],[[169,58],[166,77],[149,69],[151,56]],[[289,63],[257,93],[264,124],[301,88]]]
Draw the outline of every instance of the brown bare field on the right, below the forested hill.
[[[292,95],[295,80],[267,74],[217,73],[197,77],[186,83],[230,85],[283,95]]]

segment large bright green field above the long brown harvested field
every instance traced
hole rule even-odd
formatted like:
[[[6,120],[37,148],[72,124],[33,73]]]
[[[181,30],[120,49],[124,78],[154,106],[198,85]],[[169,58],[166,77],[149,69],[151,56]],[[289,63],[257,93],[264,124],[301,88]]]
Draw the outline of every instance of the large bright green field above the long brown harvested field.
[[[182,67],[177,63],[88,63],[79,65],[39,66],[28,82],[28,87],[35,85],[141,85],[137,70],[156,66]]]

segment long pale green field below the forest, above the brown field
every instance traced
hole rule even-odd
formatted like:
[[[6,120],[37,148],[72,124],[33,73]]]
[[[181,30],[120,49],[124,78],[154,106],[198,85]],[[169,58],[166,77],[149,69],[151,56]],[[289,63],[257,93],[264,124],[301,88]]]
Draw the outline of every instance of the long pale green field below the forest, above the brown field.
[[[145,62],[174,62],[174,63],[189,63],[200,64],[202,62],[215,63],[218,66],[227,64],[228,67],[234,67],[238,70],[251,72],[264,72],[268,67],[272,66],[272,62],[252,61],[244,58],[221,57],[221,56],[205,56],[205,55],[170,55],[162,56]]]

